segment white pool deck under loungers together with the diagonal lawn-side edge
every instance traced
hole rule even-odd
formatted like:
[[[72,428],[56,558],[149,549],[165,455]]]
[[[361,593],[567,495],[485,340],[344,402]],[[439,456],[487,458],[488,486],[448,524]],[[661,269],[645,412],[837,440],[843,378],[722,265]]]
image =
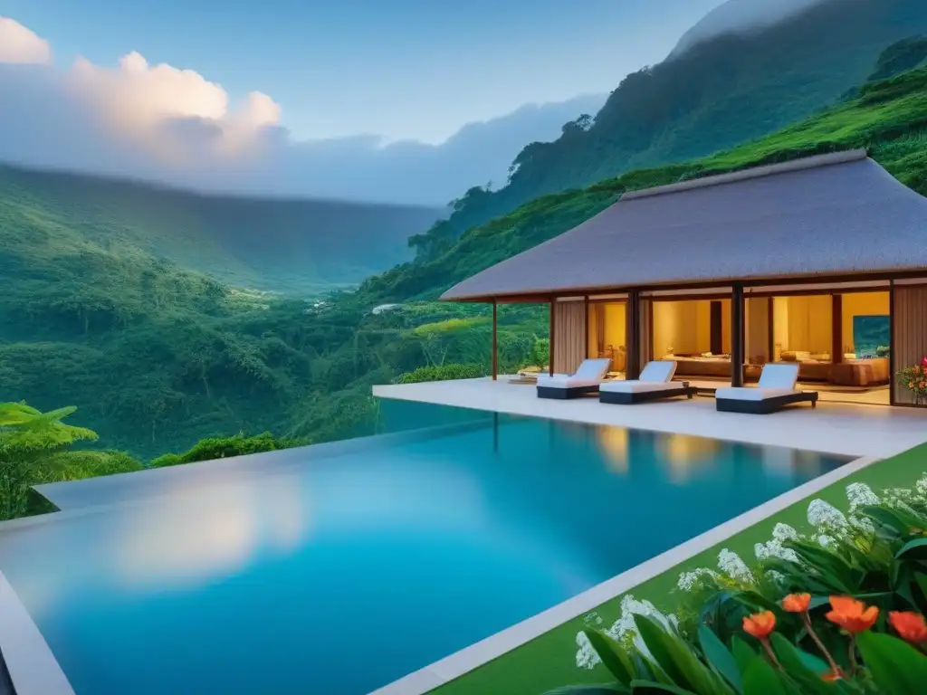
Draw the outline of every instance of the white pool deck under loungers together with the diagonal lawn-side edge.
[[[484,378],[381,385],[374,386],[374,396],[552,420],[611,424],[759,445],[787,446],[858,458],[543,613],[400,678],[372,695],[424,695],[590,612],[605,601],[627,593],[654,576],[667,572],[679,562],[768,519],[824,487],[876,461],[927,442],[927,412],[923,410],[848,405],[826,400],[819,402],[814,409],[805,404],[770,415],[717,412],[714,398],[708,397],[633,406],[606,405],[600,403],[598,398],[538,398],[533,385],[510,384],[508,377],[500,377],[495,382]]]

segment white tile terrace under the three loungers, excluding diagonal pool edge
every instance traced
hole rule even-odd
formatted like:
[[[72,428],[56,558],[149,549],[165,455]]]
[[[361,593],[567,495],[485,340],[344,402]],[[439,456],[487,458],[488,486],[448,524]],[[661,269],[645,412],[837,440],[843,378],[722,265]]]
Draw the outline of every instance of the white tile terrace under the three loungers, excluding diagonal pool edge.
[[[633,406],[598,398],[538,398],[533,385],[508,377],[374,386],[374,396],[634,429],[778,445],[844,456],[884,458],[927,441],[927,411],[819,402],[770,415],[717,412],[709,397]]]

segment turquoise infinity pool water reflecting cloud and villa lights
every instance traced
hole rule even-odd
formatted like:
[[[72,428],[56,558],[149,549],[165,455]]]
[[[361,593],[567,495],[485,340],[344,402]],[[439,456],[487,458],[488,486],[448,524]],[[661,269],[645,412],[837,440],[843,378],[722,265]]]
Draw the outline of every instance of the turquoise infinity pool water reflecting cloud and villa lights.
[[[362,695],[844,463],[454,420],[0,528],[0,570],[78,695]]]

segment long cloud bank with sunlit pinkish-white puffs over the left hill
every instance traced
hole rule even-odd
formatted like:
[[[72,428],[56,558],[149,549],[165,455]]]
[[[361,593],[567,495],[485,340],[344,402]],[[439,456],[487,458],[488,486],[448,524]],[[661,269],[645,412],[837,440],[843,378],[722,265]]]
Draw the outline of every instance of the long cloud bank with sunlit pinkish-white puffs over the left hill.
[[[252,92],[232,106],[222,85],[139,53],[115,67],[83,57],[67,69],[23,62],[0,65],[0,160],[207,192],[443,205],[473,185],[504,183],[524,145],[555,139],[605,99],[526,105],[442,145],[375,135],[298,142],[270,96]]]

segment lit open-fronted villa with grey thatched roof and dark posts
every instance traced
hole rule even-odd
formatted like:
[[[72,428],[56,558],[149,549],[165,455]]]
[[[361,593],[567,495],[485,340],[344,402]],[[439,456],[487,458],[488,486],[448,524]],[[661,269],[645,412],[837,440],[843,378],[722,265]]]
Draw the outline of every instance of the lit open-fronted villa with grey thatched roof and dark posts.
[[[549,304],[551,373],[663,359],[740,386],[791,361],[832,399],[910,405],[893,375],[927,354],[925,232],[927,199],[859,149],[629,192],[441,298]]]

